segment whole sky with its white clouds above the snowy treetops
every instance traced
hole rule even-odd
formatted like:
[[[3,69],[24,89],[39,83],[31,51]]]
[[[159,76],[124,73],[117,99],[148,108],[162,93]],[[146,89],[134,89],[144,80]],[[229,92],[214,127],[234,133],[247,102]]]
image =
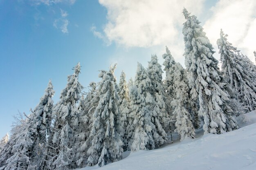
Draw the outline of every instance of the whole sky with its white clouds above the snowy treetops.
[[[117,79],[121,70],[127,79],[134,77],[137,62],[146,67],[151,54],[162,64],[166,45],[184,65],[183,7],[202,21],[216,51],[221,27],[252,58],[256,3],[233,2],[0,0],[0,137],[9,132],[18,110],[29,114],[38,104],[50,78],[56,103],[77,62],[85,87],[99,81],[98,70],[115,62]]]

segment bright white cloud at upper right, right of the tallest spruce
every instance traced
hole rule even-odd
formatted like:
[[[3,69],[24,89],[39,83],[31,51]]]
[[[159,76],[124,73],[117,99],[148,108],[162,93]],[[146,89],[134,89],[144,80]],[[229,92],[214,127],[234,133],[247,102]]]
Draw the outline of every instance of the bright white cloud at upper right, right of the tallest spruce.
[[[222,28],[224,33],[229,35],[228,41],[254,61],[253,51],[256,50],[255,9],[255,0],[219,0],[215,7],[211,8],[213,15],[203,27],[216,51],[218,51],[216,41]]]

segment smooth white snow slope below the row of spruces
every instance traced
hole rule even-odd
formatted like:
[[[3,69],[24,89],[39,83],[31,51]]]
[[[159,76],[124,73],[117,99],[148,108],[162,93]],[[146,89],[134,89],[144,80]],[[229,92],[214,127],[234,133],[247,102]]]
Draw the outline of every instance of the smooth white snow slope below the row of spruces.
[[[256,111],[249,122],[222,135],[202,135],[159,149],[124,153],[124,159],[80,170],[256,170]],[[128,155],[128,156],[127,156]]]

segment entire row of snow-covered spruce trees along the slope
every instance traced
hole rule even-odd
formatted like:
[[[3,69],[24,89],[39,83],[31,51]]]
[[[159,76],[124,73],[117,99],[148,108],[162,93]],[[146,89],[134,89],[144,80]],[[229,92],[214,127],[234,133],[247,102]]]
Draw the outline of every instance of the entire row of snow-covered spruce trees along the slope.
[[[16,117],[10,137],[0,140],[0,170],[104,166],[127,150],[158,148],[173,132],[182,141],[195,138],[198,128],[204,134],[238,129],[235,118],[246,121],[244,114],[256,109],[256,65],[221,30],[220,69],[200,21],[185,8],[183,15],[186,68],[166,47],[163,70],[152,55],[147,68],[137,64],[134,79],[126,82],[122,71],[117,83],[115,64],[100,71],[101,81],[84,94],[78,63],[56,104],[50,80],[31,113]]]

